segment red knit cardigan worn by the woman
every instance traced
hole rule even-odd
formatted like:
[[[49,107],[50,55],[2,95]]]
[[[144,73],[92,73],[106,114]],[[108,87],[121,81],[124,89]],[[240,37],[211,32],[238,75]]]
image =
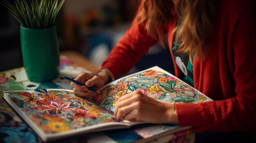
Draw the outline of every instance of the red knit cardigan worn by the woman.
[[[206,47],[209,51],[204,60],[195,57],[193,61],[195,88],[214,101],[175,104],[179,125],[191,125],[199,132],[256,130],[255,6],[255,0],[221,0],[218,4],[214,31]],[[166,29],[170,51],[176,21]],[[108,68],[117,78],[156,43],[144,24],[137,25],[135,19],[102,68]],[[180,77],[175,62],[174,68],[175,76]]]

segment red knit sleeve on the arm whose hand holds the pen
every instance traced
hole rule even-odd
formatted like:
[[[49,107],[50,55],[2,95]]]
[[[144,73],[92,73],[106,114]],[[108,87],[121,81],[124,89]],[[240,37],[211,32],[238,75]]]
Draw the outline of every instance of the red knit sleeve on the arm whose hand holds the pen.
[[[109,69],[116,79],[128,73],[140,57],[147,53],[148,49],[157,42],[157,39],[148,35],[145,24],[138,24],[138,20],[135,18],[130,29],[126,31],[126,34],[103,62],[102,68]]]

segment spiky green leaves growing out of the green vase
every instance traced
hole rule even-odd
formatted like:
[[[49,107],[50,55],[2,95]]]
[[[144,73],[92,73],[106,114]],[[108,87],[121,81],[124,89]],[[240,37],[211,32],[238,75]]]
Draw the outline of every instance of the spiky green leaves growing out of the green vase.
[[[0,0],[10,14],[20,22],[21,26],[29,29],[43,29],[54,25],[56,15],[65,0],[15,0],[10,4]]]

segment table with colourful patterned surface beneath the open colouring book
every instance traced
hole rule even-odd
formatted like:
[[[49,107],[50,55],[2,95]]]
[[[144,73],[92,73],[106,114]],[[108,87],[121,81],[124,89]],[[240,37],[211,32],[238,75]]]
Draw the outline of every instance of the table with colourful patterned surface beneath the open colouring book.
[[[75,52],[65,52],[61,54],[60,76],[52,82],[32,82],[27,79],[24,67],[15,68],[0,72],[0,142],[8,143],[40,143],[40,140],[23,122],[17,114],[2,99],[4,90],[34,90],[45,88],[65,88],[70,87],[70,81],[64,80],[63,75],[75,78],[80,72],[99,70],[98,66],[92,64],[88,59]],[[79,63],[76,64],[75,62]],[[86,69],[85,69],[86,68]],[[95,132],[82,134],[61,140],[64,143],[88,142],[88,143],[131,143],[146,142],[172,143],[189,142],[193,143],[195,133],[190,130],[168,134],[168,131],[176,128],[177,125],[152,125],[134,129],[111,130],[105,132]],[[153,140],[152,140],[153,139]],[[58,141],[60,142],[60,141]]]

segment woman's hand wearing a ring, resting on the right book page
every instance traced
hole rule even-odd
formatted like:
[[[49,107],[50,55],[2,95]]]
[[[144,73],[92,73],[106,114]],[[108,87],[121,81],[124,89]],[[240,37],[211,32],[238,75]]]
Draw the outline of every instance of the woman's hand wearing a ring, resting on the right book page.
[[[139,90],[118,99],[114,116],[119,120],[124,117],[130,121],[177,123],[177,116],[173,115],[173,104],[147,97]]]

